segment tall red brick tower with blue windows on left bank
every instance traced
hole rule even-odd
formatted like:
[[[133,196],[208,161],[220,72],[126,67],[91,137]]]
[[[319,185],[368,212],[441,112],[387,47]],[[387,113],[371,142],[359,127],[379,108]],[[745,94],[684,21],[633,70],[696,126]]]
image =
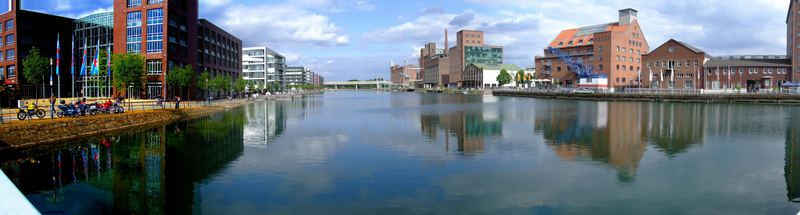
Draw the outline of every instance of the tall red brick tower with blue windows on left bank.
[[[170,68],[197,66],[197,13],[197,0],[114,0],[114,54],[146,59],[147,83],[130,96],[170,97]]]

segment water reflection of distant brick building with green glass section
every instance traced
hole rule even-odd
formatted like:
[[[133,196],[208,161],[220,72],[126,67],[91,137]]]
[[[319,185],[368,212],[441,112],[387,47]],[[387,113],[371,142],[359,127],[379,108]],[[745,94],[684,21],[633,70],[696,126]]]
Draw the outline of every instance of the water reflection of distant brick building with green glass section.
[[[476,104],[483,103],[482,96],[424,95],[422,105]],[[492,107],[475,109],[458,108],[435,113],[422,113],[420,116],[422,133],[429,139],[444,138],[445,150],[450,150],[450,139],[455,138],[459,152],[480,152],[484,150],[487,137],[503,133],[501,110]],[[439,137],[442,132],[443,137]]]

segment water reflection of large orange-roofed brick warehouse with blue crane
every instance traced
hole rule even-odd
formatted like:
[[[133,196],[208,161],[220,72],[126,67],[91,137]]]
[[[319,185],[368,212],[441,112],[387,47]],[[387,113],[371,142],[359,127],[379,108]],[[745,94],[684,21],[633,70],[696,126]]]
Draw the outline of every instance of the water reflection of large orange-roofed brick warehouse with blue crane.
[[[641,133],[641,104],[554,101],[549,105],[537,106],[534,129],[556,155],[602,162],[617,169],[620,182],[635,180],[647,148]],[[565,106],[574,108],[561,108]]]

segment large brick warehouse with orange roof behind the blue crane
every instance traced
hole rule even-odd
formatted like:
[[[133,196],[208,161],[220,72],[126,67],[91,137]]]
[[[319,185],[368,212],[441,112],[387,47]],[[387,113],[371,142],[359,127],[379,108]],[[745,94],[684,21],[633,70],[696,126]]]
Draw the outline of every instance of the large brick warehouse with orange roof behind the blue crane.
[[[617,22],[563,30],[549,47],[561,49],[594,72],[608,76],[610,88],[638,87],[641,56],[650,47],[637,15],[634,9],[623,9]],[[577,74],[547,49],[544,53],[535,58],[540,71],[537,78],[551,79],[561,86],[576,86]]]

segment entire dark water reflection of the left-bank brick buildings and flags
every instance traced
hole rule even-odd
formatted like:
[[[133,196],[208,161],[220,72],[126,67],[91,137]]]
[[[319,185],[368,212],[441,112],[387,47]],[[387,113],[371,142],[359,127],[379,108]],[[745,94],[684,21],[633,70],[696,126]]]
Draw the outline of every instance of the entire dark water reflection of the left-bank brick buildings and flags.
[[[43,149],[1,167],[40,211],[191,214],[196,185],[242,154],[243,131],[244,114],[233,110]]]

